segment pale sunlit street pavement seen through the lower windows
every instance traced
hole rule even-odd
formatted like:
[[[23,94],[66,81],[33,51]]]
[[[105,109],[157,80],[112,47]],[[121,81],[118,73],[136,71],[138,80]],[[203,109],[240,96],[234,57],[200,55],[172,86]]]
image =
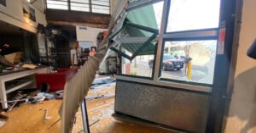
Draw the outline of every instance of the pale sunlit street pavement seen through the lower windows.
[[[211,65],[210,65],[211,66]],[[147,61],[137,60],[137,67],[131,64],[131,71],[136,72],[137,75],[151,77],[152,69],[149,68]],[[206,66],[196,66],[192,64],[191,79],[188,80],[187,75],[184,73],[184,68],[180,70],[161,70],[161,78],[172,80],[184,80],[193,81],[197,83],[212,84],[213,74],[209,72],[209,68]]]

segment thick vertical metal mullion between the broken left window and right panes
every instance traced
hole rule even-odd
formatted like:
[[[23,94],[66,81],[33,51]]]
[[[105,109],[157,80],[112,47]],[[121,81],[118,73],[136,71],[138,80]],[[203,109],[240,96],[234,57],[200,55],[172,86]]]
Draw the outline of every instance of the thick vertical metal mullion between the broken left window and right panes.
[[[159,72],[160,72],[160,57],[162,53],[163,45],[163,35],[166,29],[166,18],[167,18],[167,11],[168,11],[168,0],[164,0],[163,11],[162,11],[162,19],[160,25],[160,34],[159,40],[157,45],[157,52],[154,58],[154,75],[153,80],[159,80]]]

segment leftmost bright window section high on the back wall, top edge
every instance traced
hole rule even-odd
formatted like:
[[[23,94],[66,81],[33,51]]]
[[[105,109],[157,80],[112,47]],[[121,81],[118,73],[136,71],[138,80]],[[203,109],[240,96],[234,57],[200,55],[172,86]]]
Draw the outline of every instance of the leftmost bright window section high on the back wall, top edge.
[[[67,10],[67,0],[47,0],[47,8]]]

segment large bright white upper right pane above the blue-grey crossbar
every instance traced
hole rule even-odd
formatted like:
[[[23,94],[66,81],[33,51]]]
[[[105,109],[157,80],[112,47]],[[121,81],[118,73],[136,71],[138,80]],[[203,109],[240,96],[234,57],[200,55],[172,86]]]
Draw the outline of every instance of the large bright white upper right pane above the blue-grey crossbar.
[[[172,0],[166,32],[218,27],[220,0]]]

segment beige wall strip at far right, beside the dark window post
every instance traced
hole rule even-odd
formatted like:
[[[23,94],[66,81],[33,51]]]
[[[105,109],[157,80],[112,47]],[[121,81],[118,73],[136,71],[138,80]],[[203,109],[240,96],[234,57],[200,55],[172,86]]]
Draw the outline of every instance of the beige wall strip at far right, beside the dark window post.
[[[243,1],[235,85],[225,133],[256,132],[256,60],[247,57],[256,37],[255,7],[255,0]]]

